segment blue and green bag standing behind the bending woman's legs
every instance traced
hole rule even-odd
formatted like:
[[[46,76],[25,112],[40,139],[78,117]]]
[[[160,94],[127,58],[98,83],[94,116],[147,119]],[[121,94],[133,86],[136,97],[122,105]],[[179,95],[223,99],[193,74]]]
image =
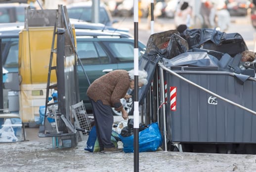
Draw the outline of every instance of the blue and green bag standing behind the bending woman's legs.
[[[118,141],[120,141],[118,133],[112,130],[111,142],[117,147]],[[95,125],[90,130],[89,137],[88,137],[88,140],[85,145],[85,150],[87,150],[89,152],[98,152],[99,151],[99,142],[97,139]]]

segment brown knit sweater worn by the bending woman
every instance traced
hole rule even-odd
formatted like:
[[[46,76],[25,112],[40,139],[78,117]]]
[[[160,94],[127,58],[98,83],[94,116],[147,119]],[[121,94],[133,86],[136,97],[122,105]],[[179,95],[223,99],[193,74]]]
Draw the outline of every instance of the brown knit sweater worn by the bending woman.
[[[123,105],[120,102],[129,88],[130,80],[128,71],[114,70],[96,79],[87,89],[87,96],[95,102],[101,100],[104,105],[115,107],[121,111]]]

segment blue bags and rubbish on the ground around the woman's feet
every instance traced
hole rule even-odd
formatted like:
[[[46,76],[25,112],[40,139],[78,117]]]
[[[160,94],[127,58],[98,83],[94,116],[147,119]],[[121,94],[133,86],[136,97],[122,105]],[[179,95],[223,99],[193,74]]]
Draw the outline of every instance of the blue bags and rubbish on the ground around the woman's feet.
[[[156,151],[162,145],[162,135],[158,123],[150,125],[139,124],[139,151]],[[123,143],[125,153],[133,152],[133,119],[121,121],[112,127],[111,142],[118,147],[118,142]],[[85,150],[89,152],[98,152],[99,143],[95,126],[92,127],[88,140],[85,144]]]

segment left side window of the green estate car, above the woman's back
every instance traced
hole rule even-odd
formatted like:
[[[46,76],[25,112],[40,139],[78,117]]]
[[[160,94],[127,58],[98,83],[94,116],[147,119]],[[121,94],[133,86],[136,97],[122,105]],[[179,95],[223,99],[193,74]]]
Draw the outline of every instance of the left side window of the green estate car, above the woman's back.
[[[109,57],[97,42],[78,41],[77,52],[83,65],[110,63]]]

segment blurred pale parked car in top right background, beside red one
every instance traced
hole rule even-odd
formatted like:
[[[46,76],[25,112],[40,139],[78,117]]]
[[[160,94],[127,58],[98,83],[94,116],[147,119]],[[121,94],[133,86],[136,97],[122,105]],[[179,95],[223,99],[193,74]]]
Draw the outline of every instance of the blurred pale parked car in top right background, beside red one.
[[[230,16],[246,16],[250,5],[250,0],[228,0],[227,10]]]

